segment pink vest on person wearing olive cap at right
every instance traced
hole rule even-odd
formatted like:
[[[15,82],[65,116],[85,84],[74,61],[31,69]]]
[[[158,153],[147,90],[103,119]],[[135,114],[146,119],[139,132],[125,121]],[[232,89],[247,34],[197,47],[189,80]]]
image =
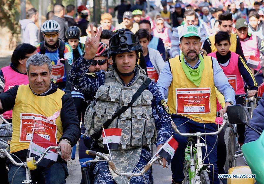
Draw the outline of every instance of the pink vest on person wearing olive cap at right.
[[[245,56],[245,59],[248,60],[250,55],[253,55],[257,58],[260,56],[260,52],[258,50],[258,43],[257,43],[257,36],[256,35],[251,35],[250,38],[246,41],[240,40],[241,47]],[[260,69],[260,63],[258,64],[258,67],[255,68],[254,70],[259,70]]]

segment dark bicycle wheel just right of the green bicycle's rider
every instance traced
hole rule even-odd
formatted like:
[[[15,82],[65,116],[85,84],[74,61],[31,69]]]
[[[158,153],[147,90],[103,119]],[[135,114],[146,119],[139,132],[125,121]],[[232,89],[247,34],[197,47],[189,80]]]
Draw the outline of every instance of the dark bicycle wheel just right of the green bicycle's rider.
[[[224,139],[226,144],[226,163],[224,169],[226,172],[228,172],[231,167],[236,166],[236,160],[233,159],[236,150],[236,139],[234,131],[231,127],[226,128]]]

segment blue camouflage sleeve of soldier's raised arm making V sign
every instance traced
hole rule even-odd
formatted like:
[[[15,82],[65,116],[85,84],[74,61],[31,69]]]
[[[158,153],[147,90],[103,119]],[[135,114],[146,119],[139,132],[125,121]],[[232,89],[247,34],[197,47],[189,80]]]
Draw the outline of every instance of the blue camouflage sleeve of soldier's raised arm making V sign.
[[[69,72],[68,81],[71,85],[94,96],[97,89],[105,83],[105,72],[89,73],[90,63],[81,55]]]

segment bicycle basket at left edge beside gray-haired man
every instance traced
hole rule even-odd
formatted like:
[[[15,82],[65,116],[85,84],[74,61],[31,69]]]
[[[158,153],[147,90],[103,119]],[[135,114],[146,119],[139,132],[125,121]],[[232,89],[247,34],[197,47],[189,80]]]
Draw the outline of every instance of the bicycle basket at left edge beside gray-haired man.
[[[12,125],[0,124],[0,149],[10,151],[10,141],[12,137]]]

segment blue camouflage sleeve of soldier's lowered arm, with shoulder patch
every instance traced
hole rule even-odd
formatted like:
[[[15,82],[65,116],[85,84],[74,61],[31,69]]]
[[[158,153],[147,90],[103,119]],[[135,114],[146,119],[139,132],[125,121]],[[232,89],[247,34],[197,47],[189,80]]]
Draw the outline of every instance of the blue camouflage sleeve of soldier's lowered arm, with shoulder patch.
[[[162,98],[156,83],[150,82],[148,90],[152,93],[152,113],[155,119],[156,129],[158,131],[157,145],[161,142],[165,143],[171,136],[171,121],[169,108]]]

